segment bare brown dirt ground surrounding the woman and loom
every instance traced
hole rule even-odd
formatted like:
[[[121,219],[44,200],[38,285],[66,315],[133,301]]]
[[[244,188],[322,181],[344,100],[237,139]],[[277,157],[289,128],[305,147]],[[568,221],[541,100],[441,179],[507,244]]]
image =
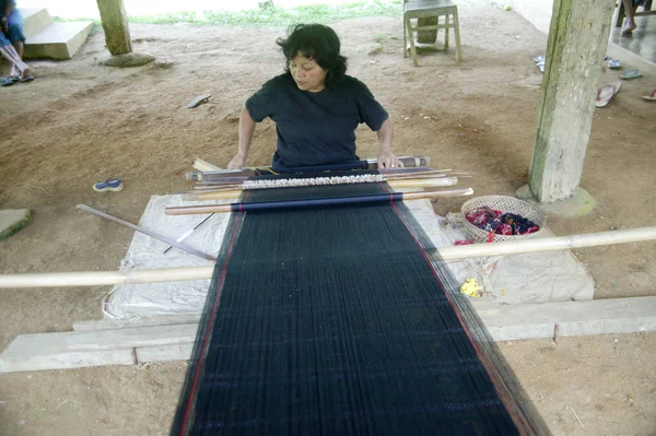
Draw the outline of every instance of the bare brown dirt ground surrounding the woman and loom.
[[[513,195],[526,184],[541,74],[531,58],[547,37],[514,12],[459,2],[464,62],[436,52],[413,68],[395,19],[335,23],[350,74],[389,110],[397,154],[470,172],[476,195]],[[0,90],[0,208],[30,208],[35,221],[0,243],[0,272],[116,270],[132,232],[74,209],[86,203],[138,222],[151,195],[188,188],[196,157],[225,165],[235,153],[245,99],[282,69],[283,28],[131,26],[133,48],[157,60],[140,69],[99,67],[104,35],[73,60],[33,62],[37,80]],[[599,67],[601,68],[601,67]],[[618,75],[606,71],[604,80]],[[549,219],[557,235],[656,223],[656,105],[640,95],[656,71],[624,83],[597,109],[582,186],[598,201],[585,217]],[[211,93],[209,104],[186,104]],[[427,117],[427,118],[426,118]],[[265,165],[276,128],[256,131],[248,164]],[[376,138],[359,131],[363,157]],[[120,177],[126,189],[96,193]],[[441,201],[438,213],[462,200]],[[656,245],[577,251],[598,298],[656,295]],[[101,318],[107,286],[0,290],[0,349],[22,333],[67,331]],[[502,344],[554,435],[656,435],[656,333]],[[0,376],[0,434],[166,434],[185,363]]]

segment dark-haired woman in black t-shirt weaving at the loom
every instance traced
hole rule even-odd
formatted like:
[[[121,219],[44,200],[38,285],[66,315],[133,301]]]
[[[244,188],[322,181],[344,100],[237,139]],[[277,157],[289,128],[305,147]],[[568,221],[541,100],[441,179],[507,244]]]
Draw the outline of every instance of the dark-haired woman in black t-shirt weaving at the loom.
[[[229,168],[242,168],[257,122],[277,123],[278,149],[272,168],[340,165],[359,161],[355,128],[365,122],[378,135],[379,168],[401,167],[391,152],[393,127],[387,111],[366,85],[345,74],[335,31],[298,24],[288,39],[278,39],[285,72],[262,85],[239,117],[239,145]]]

